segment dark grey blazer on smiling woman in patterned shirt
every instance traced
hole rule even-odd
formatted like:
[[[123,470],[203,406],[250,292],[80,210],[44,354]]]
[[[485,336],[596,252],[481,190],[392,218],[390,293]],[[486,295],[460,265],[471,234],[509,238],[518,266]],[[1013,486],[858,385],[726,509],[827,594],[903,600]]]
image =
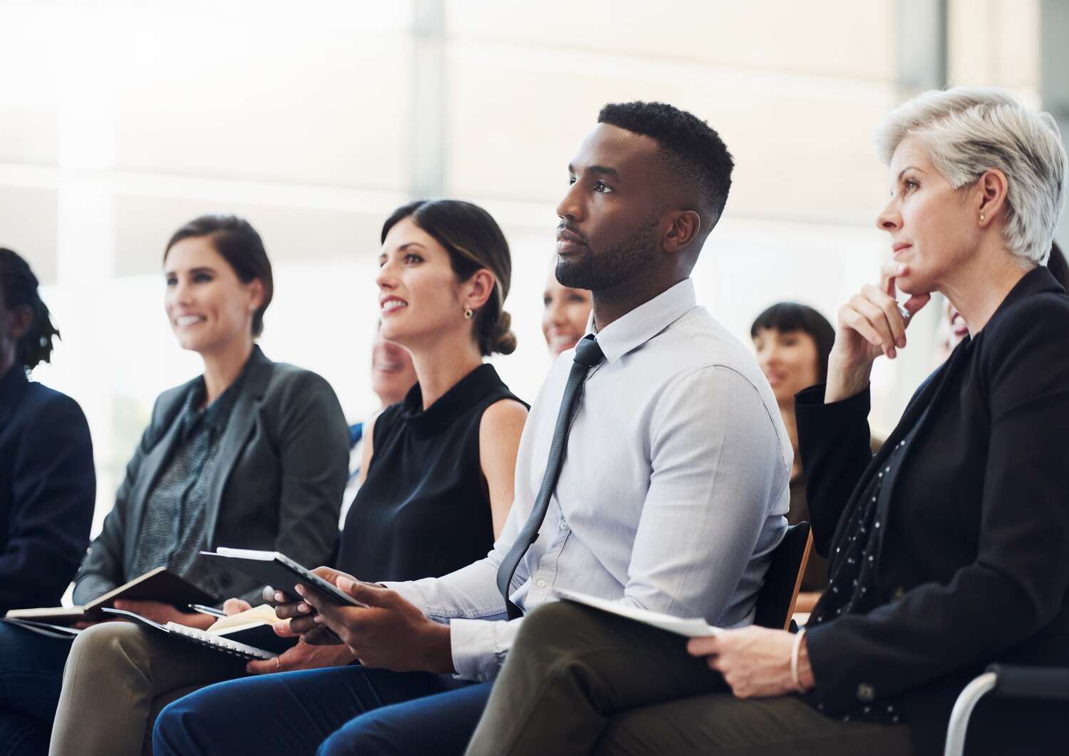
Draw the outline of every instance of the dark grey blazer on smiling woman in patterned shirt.
[[[124,582],[146,498],[177,439],[176,419],[192,383],[156,400],[115,506],[75,577],[76,603]],[[257,346],[218,453],[205,513],[210,550],[264,549],[308,566],[329,564],[348,476],[348,426],[326,381],[273,362]],[[262,586],[251,577],[211,569],[226,593],[220,599],[236,596],[259,603]]]

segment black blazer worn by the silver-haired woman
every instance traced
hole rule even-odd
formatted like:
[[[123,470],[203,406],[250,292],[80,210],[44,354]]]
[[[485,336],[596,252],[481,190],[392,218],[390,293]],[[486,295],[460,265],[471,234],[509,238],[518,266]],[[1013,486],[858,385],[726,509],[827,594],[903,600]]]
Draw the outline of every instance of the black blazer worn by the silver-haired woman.
[[[873,458],[868,391],[796,397],[817,551],[845,538],[861,485],[919,422],[884,481],[882,606],[806,644],[826,713],[903,699],[915,747],[943,752],[955,698],[991,662],[1069,666],[1069,297],[1045,267],[918,389]],[[1058,711],[1060,709],[1060,711]],[[1065,752],[1066,707],[981,704],[970,754]]]

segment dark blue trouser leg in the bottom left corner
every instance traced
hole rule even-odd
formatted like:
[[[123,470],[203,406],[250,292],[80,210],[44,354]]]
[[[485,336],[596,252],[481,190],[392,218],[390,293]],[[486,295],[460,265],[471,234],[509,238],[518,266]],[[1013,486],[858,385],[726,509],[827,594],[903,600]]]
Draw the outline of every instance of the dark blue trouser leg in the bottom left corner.
[[[71,641],[0,622],[0,756],[43,756]]]

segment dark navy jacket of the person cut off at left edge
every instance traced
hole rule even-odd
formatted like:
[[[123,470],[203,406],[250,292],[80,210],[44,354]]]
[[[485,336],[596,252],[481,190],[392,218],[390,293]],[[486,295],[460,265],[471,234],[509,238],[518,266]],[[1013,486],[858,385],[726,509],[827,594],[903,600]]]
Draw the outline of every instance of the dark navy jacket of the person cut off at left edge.
[[[0,376],[0,615],[58,605],[89,543],[93,444],[78,403]]]

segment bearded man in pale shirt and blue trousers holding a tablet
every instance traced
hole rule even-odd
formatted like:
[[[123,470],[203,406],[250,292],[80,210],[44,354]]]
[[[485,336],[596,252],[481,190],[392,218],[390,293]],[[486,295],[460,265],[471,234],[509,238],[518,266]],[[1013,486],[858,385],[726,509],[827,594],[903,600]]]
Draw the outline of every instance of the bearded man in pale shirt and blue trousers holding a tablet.
[[[655,103],[606,106],[569,166],[556,273],[591,290],[588,330],[604,358],[572,407],[560,477],[508,589],[523,612],[568,588],[724,627],[753,620],[786,529],[791,446],[749,351],[697,306],[688,278],[731,168],[704,122]],[[294,699],[315,715],[296,728],[307,743],[282,736],[293,747],[463,752],[524,621],[507,618],[498,569],[543,485],[572,357],[531,408],[512,511],[485,559],[385,587],[321,570],[369,608],[306,593],[280,614],[308,642],[340,638],[363,666],[205,689],[160,715],[156,753],[222,752],[232,732],[234,749],[252,750],[243,725],[292,722]]]

